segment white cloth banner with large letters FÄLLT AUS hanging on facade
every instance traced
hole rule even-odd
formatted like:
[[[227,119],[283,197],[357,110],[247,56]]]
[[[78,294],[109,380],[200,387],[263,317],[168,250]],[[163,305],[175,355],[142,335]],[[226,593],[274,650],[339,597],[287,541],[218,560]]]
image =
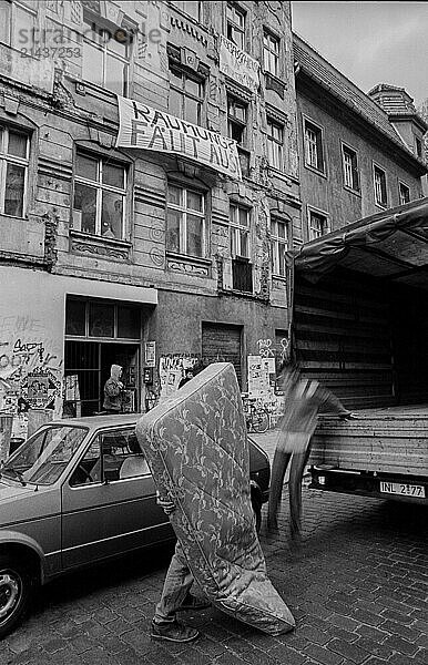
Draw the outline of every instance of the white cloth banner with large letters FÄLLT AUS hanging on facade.
[[[118,147],[136,147],[187,157],[241,180],[236,141],[118,95]]]

